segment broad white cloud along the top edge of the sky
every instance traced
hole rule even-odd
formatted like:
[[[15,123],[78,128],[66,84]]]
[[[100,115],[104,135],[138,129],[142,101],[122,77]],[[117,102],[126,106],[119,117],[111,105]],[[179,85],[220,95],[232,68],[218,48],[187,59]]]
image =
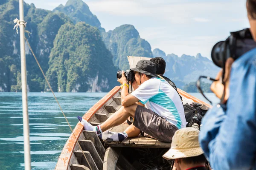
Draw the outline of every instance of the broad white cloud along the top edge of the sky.
[[[238,13],[243,3],[201,2],[185,0],[97,0],[88,1],[90,9],[95,12],[122,16],[147,16],[152,19],[165,20],[171,23],[209,22],[212,18],[219,20]],[[240,10],[241,11],[241,10]],[[226,16],[223,16],[223,12]],[[198,17],[205,16],[207,17]]]

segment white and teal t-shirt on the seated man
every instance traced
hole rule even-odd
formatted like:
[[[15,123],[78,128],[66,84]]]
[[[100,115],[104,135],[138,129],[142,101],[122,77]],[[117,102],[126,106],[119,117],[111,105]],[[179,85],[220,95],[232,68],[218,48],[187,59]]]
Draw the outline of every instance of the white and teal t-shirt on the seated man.
[[[131,93],[145,105],[176,127],[186,127],[183,104],[177,91],[160,78],[151,78]]]

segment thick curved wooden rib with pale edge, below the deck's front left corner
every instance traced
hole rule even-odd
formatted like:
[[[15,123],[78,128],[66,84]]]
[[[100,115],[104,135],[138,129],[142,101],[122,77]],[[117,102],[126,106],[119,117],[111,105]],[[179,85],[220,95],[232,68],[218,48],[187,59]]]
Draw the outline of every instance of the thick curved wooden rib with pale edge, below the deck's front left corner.
[[[122,148],[108,147],[104,157],[103,170],[115,170]]]

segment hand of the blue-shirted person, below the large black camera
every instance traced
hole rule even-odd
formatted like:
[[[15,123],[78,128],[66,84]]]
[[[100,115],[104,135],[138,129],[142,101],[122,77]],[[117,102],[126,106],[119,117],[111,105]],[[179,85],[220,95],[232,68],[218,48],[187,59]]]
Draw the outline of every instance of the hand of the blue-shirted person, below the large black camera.
[[[229,83],[230,83],[230,72],[231,72],[231,66],[234,62],[233,58],[228,58],[226,63],[225,63],[225,75],[223,81],[225,82],[225,96],[223,103],[227,102],[227,99],[229,98],[230,95],[230,89],[229,89]],[[222,77],[223,70],[217,74],[215,79],[218,79],[218,81],[215,81],[211,85],[211,91],[219,98],[221,99],[223,91],[224,91],[224,85],[221,82],[221,77]]]

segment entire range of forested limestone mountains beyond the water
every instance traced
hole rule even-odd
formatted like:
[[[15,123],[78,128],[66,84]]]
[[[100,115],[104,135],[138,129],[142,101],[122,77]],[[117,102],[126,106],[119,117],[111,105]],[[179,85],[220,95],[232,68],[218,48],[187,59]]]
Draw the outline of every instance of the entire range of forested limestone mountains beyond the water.
[[[18,0],[0,1],[0,92],[20,92],[20,40],[12,30],[19,16]],[[207,57],[165,54],[140,38],[132,25],[106,32],[82,0],[68,0],[52,11],[24,3],[26,30],[35,55],[56,92],[108,92],[116,71],[128,69],[128,55],[163,57],[166,76],[178,88],[192,92],[191,82],[201,74],[215,76],[218,68]],[[26,44],[29,92],[49,91]]]

